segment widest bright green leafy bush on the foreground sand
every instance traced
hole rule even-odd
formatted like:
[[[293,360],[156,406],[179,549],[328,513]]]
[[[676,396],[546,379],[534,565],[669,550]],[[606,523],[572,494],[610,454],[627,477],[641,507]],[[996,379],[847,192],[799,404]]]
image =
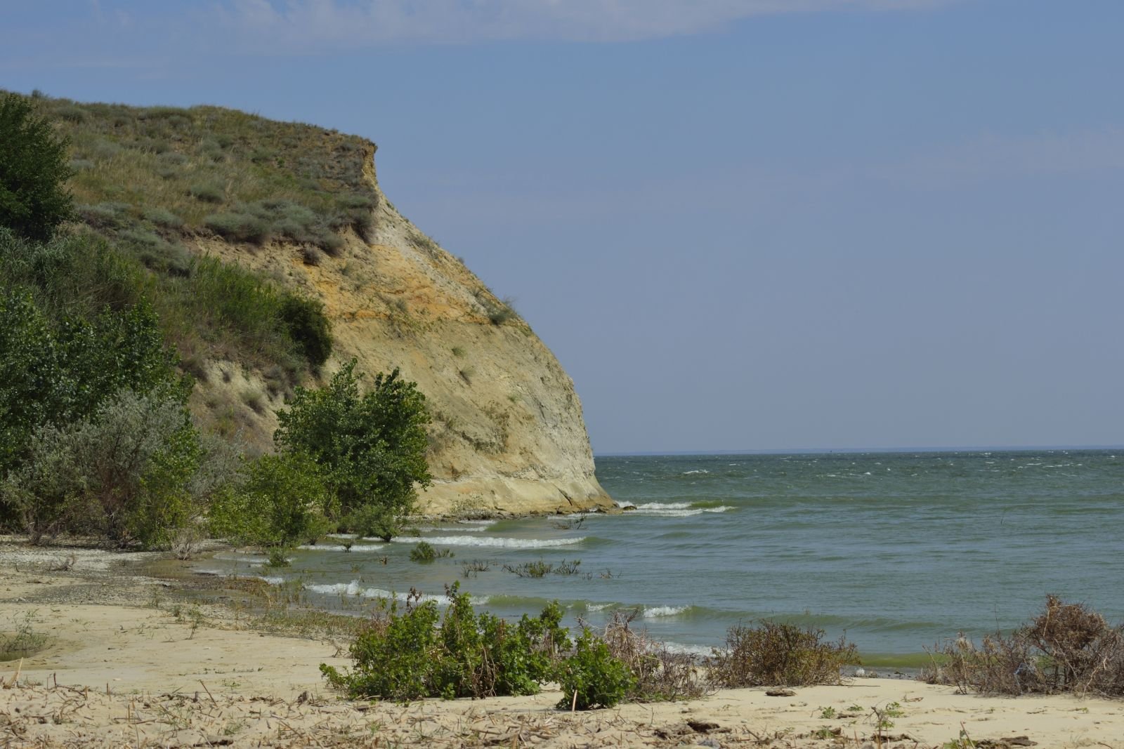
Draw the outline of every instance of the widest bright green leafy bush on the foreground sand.
[[[320,672],[351,697],[399,701],[535,694],[552,678],[559,654],[570,647],[558,603],[510,624],[477,615],[456,585],[446,595],[444,615],[416,591],[401,614],[397,602],[381,602],[351,646],[354,668],[341,673],[321,664]]]

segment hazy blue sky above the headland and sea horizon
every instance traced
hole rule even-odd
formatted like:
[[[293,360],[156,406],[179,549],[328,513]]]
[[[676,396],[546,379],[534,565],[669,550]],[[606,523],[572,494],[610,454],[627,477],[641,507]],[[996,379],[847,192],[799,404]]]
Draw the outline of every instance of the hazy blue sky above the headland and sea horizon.
[[[1124,444],[1118,0],[40,0],[0,88],[359,134],[598,454]]]

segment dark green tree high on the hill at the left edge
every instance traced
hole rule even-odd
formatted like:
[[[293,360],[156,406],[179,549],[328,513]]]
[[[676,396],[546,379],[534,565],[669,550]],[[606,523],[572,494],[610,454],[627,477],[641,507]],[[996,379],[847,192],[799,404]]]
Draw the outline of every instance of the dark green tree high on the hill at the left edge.
[[[48,239],[71,217],[66,146],[47,120],[35,116],[27,98],[0,97],[0,226]]]

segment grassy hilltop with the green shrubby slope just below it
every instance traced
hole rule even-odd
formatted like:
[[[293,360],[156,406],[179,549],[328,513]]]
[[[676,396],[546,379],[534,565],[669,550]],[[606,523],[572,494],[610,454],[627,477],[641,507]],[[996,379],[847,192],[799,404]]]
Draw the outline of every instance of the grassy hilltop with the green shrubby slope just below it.
[[[218,107],[33,101],[70,144],[80,231],[134,266],[185,369],[206,377],[210,359],[241,362],[288,393],[326,359],[325,341],[299,329],[323,327],[319,302],[189,245],[283,240],[312,263],[338,252],[342,232],[371,230],[374,144]]]

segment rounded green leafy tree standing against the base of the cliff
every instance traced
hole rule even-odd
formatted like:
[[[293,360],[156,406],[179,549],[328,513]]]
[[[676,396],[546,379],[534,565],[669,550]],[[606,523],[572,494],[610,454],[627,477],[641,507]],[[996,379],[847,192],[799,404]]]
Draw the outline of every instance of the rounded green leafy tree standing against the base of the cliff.
[[[360,395],[355,364],[344,365],[323,389],[298,387],[278,414],[273,439],[282,451],[311,456],[326,469],[341,510],[390,540],[398,521],[414,511],[415,484],[432,483],[425,459],[429,413],[417,384],[398,369],[377,374],[370,392]]]

